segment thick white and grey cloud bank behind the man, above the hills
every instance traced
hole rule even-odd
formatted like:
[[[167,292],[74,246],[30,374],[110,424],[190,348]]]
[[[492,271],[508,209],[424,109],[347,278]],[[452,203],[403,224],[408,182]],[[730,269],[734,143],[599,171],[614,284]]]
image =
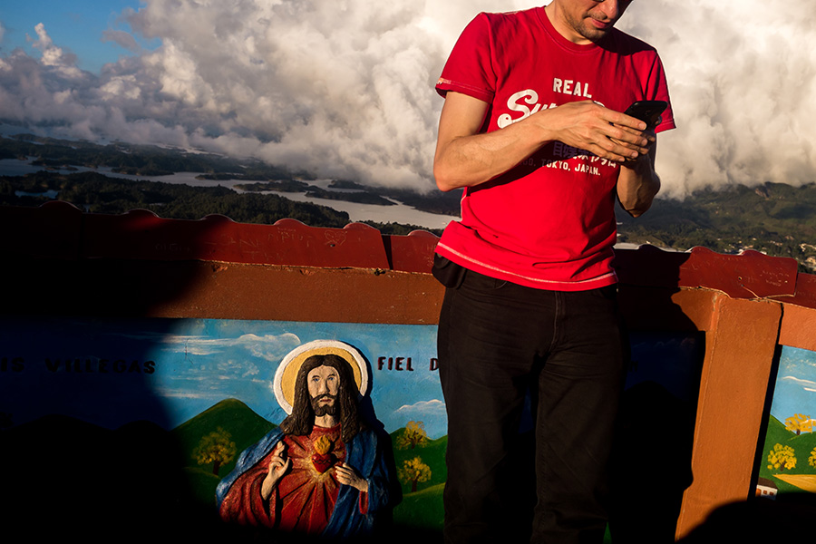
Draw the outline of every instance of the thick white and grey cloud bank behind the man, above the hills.
[[[431,190],[453,43],[479,11],[520,0],[148,0],[122,17],[160,38],[83,72],[34,29],[41,58],[0,56],[0,120],[53,135],[257,157],[323,177]],[[679,129],[660,138],[664,194],[816,180],[816,27],[807,0],[650,0],[619,26],[657,47]],[[0,21],[2,33],[2,21]]]

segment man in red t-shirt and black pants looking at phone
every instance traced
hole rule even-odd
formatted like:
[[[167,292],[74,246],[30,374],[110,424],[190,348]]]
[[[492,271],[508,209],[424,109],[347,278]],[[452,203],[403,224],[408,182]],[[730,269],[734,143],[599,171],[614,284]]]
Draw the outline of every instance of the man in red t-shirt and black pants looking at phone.
[[[652,203],[656,126],[623,112],[669,102],[654,48],[613,28],[625,0],[553,0],[481,14],[437,83],[433,173],[464,188],[434,275],[448,287],[439,369],[448,410],[445,538],[507,539],[520,491],[516,440],[529,392],[532,539],[600,542],[624,378],[615,200]],[[529,527],[529,525],[527,526]],[[530,530],[524,529],[525,538]]]

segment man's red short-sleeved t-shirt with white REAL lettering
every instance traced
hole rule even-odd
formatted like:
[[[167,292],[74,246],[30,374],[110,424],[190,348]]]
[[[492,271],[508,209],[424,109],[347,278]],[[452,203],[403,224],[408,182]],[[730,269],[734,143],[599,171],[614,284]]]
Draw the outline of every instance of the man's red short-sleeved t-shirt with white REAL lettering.
[[[663,65],[650,45],[617,29],[597,44],[573,44],[543,7],[478,15],[436,89],[488,102],[485,132],[567,102],[593,100],[623,112],[636,100],[669,100]],[[669,106],[656,131],[674,127]],[[436,251],[528,287],[579,291],[614,284],[618,169],[551,142],[500,177],[465,189],[461,221],[445,228]]]

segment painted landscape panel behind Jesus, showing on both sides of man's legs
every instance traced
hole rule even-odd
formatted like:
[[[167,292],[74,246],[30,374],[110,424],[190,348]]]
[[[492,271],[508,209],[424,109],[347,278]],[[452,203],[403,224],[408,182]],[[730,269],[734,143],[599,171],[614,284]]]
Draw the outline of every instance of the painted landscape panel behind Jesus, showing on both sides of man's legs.
[[[18,469],[8,471],[6,479],[18,490],[10,508],[22,515],[28,510],[21,505],[39,500],[38,489],[47,487],[48,478],[32,485],[30,474],[53,463],[53,444],[70,443],[59,450],[61,462],[71,467],[62,476],[64,486],[77,504],[94,504],[97,520],[118,526],[139,515],[144,503],[155,506],[151,519],[217,517],[219,482],[236,468],[242,452],[274,436],[292,410],[291,394],[282,393],[277,373],[321,343],[340,346],[354,363],[360,409],[384,445],[390,502],[398,503],[394,523],[438,531],[447,422],[435,325],[4,321],[0,436],[11,447],[3,449],[0,463]],[[702,337],[693,334],[632,335],[624,406],[628,445],[619,460],[618,488],[627,491],[625,500],[648,497],[640,511],[647,510],[652,520],[664,516],[669,527],[674,507],[648,510],[656,504],[656,491],[641,489],[651,480],[638,485],[632,478],[631,456],[642,448],[664,452],[636,460],[637,473],[648,473],[643,469],[649,462],[663,473],[669,463],[689,465],[703,347]],[[267,445],[262,455],[274,457],[276,442]],[[332,457],[331,449],[316,453]],[[331,462],[339,461],[333,454]],[[287,462],[286,455],[278,457]],[[123,467],[130,474],[127,495],[111,476]],[[664,480],[662,492],[679,508],[686,473],[668,473],[677,481]],[[117,500],[101,500],[107,496]],[[67,512],[65,522],[78,515],[61,511]],[[641,515],[632,527],[644,523]]]

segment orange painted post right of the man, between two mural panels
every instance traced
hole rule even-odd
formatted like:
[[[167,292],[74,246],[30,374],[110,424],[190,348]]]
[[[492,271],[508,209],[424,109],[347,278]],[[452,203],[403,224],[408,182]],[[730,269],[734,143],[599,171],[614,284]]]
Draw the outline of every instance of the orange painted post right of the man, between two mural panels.
[[[717,507],[751,493],[754,453],[779,335],[782,307],[718,296],[700,384],[692,454],[677,538]]]

